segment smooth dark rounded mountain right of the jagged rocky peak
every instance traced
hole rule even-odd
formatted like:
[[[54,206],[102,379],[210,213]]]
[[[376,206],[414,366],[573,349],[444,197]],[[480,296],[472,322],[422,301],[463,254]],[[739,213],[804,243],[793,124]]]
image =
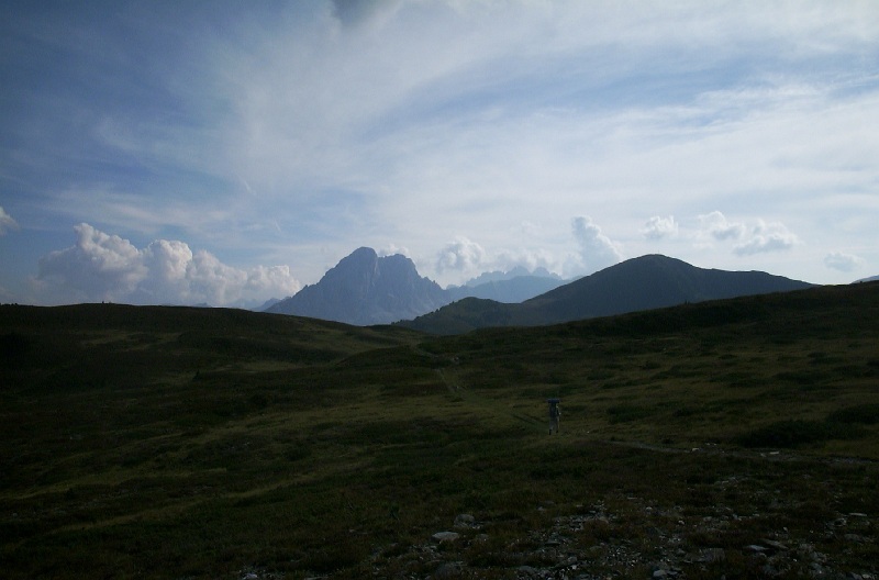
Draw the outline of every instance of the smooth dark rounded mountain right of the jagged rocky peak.
[[[649,255],[611,266],[520,304],[469,298],[400,324],[434,334],[458,334],[487,326],[556,324],[812,286],[760,271],[703,269]]]

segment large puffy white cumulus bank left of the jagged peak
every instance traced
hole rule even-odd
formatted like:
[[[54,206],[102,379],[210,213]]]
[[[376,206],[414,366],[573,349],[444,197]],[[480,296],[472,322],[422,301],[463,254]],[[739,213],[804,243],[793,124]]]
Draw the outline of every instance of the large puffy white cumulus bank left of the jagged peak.
[[[74,227],[76,245],[40,259],[38,290],[53,302],[227,305],[296,293],[287,266],[242,270],[185,242],[156,239],[143,249],[87,223]]]

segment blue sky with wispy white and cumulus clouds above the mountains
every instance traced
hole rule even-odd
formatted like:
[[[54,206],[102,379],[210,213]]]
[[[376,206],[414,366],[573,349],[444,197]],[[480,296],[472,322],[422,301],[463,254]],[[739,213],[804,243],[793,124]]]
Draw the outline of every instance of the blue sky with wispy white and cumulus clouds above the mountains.
[[[879,2],[0,3],[0,302],[879,274]]]

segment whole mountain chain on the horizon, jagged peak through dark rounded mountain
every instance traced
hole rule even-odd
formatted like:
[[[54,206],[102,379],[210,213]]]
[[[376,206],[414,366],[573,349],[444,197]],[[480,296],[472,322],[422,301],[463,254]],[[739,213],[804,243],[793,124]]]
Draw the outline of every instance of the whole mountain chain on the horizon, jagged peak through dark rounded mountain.
[[[265,311],[367,326],[400,322],[436,334],[485,326],[533,326],[723,298],[808,288],[758,271],[697,268],[666,256],[634,258],[565,281],[546,270],[489,272],[441,288],[405,256],[379,257],[361,247],[315,285]]]

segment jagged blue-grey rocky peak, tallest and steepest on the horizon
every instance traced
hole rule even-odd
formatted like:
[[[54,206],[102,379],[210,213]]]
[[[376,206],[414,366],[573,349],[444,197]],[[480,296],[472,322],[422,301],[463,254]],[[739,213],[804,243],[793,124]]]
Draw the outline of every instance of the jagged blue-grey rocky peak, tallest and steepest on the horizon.
[[[361,247],[318,283],[307,286],[267,312],[367,326],[414,319],[447,303],[446,292],[419,276],[411,259],[399,254],[379,257],[372,248]]]

